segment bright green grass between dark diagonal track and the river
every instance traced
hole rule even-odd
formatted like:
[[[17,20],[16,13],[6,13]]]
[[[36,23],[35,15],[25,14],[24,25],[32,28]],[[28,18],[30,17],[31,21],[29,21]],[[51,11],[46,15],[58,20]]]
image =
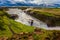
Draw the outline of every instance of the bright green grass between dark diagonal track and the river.
[[[32,26],[27,26],[18,22],[15,22],[13,20],[11,20],[12,23],[12,28],[16,33],[20,33],[20,32],[33,32],[34,31],[34,27]]]

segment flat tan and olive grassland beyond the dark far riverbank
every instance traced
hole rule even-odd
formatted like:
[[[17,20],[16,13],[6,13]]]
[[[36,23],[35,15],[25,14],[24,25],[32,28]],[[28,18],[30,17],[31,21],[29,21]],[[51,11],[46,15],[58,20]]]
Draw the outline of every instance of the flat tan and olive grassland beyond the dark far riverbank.
[[[41,9],[34,9],[34,10],[60,15],[60,8],[41,8]]]

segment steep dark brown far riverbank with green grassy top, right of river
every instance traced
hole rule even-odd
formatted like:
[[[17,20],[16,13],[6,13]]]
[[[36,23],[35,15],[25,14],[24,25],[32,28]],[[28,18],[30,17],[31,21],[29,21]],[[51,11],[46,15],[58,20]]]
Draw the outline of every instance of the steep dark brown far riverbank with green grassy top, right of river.
[[[46,23],[49,27],[60,26],[60,15],[41,11],[42,9],[27,9],[25,12],[32,17],[35,17],[44,23]],[[56,10],[56,9],[55,9]],[[51,9],[50,9],[51,11]]]

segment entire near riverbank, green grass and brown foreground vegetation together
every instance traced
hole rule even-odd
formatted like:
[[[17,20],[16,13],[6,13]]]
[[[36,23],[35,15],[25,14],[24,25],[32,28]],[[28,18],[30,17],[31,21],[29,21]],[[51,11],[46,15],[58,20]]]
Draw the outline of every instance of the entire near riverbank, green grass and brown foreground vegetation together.
[[[0,10],[0,40],[60,40],[60,30],[27,26]]]

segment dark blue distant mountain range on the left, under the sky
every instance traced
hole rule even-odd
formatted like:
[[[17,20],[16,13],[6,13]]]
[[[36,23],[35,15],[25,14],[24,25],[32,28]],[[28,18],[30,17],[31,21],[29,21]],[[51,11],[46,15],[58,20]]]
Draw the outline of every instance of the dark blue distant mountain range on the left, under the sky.
[[[10,1],[7,1],[6,3],[0,4],[0,6],[38,6],[36,4],[31,4],[31,3],[22,3],[22,2],[17,2],[15,4],[12,4]]]

